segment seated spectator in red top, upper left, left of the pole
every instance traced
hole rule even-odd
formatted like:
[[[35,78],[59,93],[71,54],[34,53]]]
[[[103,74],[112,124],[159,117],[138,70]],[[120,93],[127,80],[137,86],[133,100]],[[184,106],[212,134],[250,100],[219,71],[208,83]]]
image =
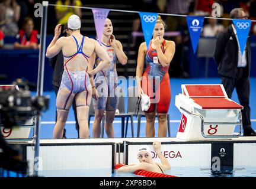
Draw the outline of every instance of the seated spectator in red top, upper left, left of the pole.
[[[27,17],[23,22],[23,29],[19,31],[16,36],[14,48],[39,48],[39,34],[34,30],[34,21],[32,18]]]

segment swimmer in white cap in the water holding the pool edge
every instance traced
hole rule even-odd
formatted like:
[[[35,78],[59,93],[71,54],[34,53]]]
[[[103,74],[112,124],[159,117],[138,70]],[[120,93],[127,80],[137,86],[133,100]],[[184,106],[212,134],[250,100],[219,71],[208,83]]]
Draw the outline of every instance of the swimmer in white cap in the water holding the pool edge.
[[[154,141],[153,149],[157,156],[161,160],[161,163],[152,161],[152,153],[148,146],[143,146],[139,148],[137,153],[137,158],[139,159],[139,164],[124,165],[120,167],[118,172],[135,172],[137,170],[152,171],[164,174],[165,170],[170,170],[171,165],[168,159],[165,159],[164,155],[161,153],[161,142]]]

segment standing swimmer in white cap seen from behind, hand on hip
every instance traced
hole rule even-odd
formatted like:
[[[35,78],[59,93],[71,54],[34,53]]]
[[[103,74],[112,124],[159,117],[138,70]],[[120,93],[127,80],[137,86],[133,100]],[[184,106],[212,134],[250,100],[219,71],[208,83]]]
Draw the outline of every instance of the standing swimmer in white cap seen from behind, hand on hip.
[[[72,31],[71,36],[58,39],[61,24],[56,25],[55,36],[46,51],[48,58],[55,56],[61,50],[64,57],[64,71],[56,99],[57,122],[53,138],[62,138],[63,128],[74,98],[80,126],[79,138],[88,138],[88,111],[92,96],[90,78],[109,66],[110,58],[97,41],[81,35],[81,21],[77,15],[69,17],[68,28]],[[98,54],[101,58],[101,63],[94,70],[92,70],[94,60],[89,58],[92,53]]]

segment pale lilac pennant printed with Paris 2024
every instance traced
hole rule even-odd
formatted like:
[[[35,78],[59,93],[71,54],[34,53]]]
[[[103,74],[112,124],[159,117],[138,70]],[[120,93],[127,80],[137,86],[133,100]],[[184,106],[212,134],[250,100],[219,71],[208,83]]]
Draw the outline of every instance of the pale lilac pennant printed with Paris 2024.
[[[108,12],[109,12],[109,9],[100,9],[100,8],[92,9],[92,13],[94,14],[94,24],[95,24],[95,30],[96,30],[98,41],[101,41],[105,19],[108,16]]]

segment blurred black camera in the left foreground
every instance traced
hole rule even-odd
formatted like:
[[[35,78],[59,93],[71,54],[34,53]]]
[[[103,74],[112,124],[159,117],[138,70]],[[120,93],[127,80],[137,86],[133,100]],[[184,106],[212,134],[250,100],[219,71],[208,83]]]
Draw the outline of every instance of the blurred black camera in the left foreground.
[[[20,86],[20,87],[19,87]],[[0,85],[0,124],[4,128],[24,125],[25,122],[49,107],[49,96],[34,96],[26,82],[17,80],[12,85]],[[7,144],[0,132],[0,168],[25,174],[27,162],[20,150]]]

